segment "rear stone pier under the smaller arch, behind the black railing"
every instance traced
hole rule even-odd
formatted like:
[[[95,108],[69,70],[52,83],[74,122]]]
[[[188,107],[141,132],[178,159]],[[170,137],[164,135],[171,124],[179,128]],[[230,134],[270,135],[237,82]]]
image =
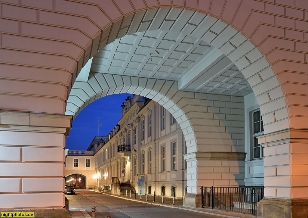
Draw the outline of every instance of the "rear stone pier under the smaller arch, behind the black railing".
[[[201,186],[244,185],[246,153],[194,152],[185,154],[187,186],[196,187],[196,193],[184,196],[184,206],[201,207]]]

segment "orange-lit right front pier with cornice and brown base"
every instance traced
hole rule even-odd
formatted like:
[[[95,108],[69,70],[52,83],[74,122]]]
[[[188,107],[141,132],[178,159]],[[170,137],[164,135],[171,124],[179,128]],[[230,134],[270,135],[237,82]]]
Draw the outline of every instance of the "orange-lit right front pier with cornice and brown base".
[[[264,195],[258,217],[308,217],[308,130],[258,137],[264,148]]]

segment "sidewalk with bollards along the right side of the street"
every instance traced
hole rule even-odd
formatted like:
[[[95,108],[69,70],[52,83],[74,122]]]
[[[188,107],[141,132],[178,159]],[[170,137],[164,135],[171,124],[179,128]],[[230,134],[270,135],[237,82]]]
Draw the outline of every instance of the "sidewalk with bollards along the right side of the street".
[[[153,195],[148,195],[148,201],[146,201],[146,196],[142,195],[141,200],[140,200],[140,195],[136,194],[136,199],[135,199],[135,194],[132,194],[132,197],[130,198],[130,194],[124,193],[124,196],[122,195],[113,195],[109,192],[100,192],[96,190],[92,190],[95,192],[103,193],[105,195],[110,195],[114,196],[117,198],[122,198],[126,200],[131,200],[131,201],[137,201],[145,204],[153,204],[153,205],[159,205],[162,207],[170,207],[170,208],[178,208],[182,210],[188,210],[188,211],[193,211],[193,212],[199,212],[199,213],[204,213],[204,214],[209,214],[209,215],[216,215],[216,216],[221,216],[221,217],[228,217],[228,218],[256,218],[257,216],[251,215],[251,214],[244,214],[244,213],[237,213],[237,212],[230,212],[230,211],[223,211],[223,210],[212,210],[210,208],[188,208],[183,206],[183,199],[175,199],[174,200],[174,205],[173,203],[173,198],[166,198],[164,197],[164,203],[162,203],[162,197],[161,196],[155,196],[155,202],[153,202]]]

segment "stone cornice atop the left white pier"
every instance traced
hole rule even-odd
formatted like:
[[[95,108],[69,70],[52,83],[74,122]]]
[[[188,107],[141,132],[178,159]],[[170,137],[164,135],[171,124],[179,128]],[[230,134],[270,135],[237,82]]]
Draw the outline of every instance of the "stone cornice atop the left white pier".
[[[69,135],[71,115],[0,111],[0,130]]]

